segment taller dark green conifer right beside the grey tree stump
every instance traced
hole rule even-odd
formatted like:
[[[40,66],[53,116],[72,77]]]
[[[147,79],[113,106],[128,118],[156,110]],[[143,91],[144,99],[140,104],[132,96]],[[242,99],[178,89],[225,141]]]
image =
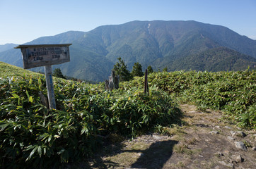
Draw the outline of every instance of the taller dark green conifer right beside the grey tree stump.
[[[114,65],[116,75],[119,75],[120,82],[132,80],[132,75],[127,70],[127,65],[124,63],[121,57],[117,58],[118,62]]]

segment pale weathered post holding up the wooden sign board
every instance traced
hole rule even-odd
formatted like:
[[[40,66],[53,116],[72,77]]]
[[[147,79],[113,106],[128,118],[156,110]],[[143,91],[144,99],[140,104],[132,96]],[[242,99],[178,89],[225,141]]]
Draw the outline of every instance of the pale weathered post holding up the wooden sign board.
[[[45,80],[47,87],[47,95],[50,108],[56,109],[55,97],[54,97],[54,87],[52,81],[52,65],[45,65]]]

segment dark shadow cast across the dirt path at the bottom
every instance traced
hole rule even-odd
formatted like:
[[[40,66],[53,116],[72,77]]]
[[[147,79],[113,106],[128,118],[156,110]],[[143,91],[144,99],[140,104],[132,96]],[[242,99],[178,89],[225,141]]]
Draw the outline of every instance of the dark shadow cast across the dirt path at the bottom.
[[[172,156],[175,144],[178,144],[178,141],[167,140],[151,144],[149,149],[141,151],[141,156],[131,168],[163,168]]]

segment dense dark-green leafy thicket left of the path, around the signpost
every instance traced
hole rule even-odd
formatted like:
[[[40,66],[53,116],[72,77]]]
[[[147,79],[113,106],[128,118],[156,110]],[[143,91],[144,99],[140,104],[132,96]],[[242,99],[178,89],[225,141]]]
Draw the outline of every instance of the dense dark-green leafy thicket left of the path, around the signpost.
[[[177,104],[162,90],[125,87],[105,91],[103,84],[54,78],[57,110],[40,101],[45,77],[0,79],[0,168],[59,168],[91,156],[98,135],[135,137],[156,126],[178,123]]]

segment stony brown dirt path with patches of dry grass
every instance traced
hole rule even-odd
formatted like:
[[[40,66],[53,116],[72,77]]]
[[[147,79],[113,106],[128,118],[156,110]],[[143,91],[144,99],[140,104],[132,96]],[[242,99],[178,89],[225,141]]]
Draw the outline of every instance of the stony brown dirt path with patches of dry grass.
[[[220,112],[187,104],[181,109],[185,125],[166,128],[169,136],[149,134],[105,146],[112,155],[81,168],[256,168],[255,131],[221,122]]]

